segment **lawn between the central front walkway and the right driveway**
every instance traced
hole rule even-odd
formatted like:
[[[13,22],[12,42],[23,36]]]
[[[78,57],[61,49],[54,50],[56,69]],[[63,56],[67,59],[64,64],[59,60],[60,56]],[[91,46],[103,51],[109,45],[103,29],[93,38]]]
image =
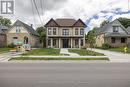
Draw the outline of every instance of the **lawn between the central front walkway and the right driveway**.
[[[69,49],[69,52],[71,53],[77,53],[80,56],[103,56],[104,54],[89,51],[86,49]]]

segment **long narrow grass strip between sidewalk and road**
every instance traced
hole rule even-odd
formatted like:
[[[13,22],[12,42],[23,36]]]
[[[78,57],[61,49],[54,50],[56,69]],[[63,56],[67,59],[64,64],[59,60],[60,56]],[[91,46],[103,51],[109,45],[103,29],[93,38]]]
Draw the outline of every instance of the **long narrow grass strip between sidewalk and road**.
[[[109,60],[108,58],[31,58],[31,57],[16,57],[11,60]]]

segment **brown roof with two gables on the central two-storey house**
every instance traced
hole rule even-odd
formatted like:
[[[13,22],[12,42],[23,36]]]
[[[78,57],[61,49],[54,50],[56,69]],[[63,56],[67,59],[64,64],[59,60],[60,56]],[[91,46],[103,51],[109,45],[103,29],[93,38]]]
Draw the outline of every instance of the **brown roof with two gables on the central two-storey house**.
[[[79,19],[51,19],[45,24],[45,27],[86,27],[85,23]]]

